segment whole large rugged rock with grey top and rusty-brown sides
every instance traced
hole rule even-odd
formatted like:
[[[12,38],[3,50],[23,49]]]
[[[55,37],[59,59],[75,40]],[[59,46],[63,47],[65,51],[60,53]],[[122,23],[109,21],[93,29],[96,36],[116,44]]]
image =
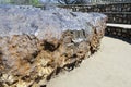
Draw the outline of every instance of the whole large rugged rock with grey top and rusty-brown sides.
[[[106,16],[0,5],[0,87],[40,87],[99,47]]]

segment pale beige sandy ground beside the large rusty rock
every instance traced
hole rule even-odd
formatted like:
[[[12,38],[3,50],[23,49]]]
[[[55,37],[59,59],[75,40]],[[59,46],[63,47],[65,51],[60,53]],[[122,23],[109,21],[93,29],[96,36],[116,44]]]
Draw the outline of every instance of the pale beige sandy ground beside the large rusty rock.
[[[131,45],[104,37],[98,52],[47,87],[131,87]]]

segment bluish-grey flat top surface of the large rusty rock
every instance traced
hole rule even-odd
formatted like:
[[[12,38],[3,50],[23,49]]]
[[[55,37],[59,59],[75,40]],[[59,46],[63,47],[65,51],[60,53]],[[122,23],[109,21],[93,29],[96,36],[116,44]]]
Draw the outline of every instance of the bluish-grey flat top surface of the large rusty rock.
[[[72,12],[60,8],[41,10],[31,5],[0,5],[0,36],[35,35],[39,39],[60,38],[64,30],[103,27],[106,16],[99,13]],[[51,36],[50,36],[51,35]]]

